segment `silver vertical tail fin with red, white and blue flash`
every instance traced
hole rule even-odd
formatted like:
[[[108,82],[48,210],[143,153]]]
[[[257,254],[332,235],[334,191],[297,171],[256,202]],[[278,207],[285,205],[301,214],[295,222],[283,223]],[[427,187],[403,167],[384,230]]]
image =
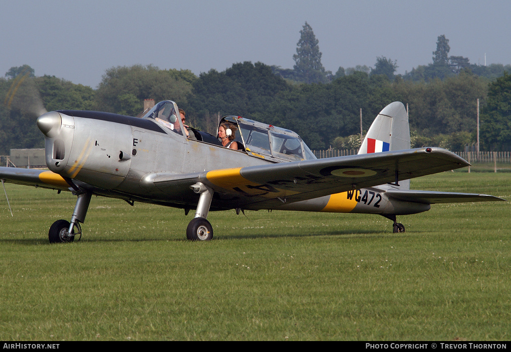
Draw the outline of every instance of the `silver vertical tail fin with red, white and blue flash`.
[[[358,154],[410,149],[408,114],[403,103],[383,108],[369,127]],[[400,181],[400,189],[410,189],[410,180]]]

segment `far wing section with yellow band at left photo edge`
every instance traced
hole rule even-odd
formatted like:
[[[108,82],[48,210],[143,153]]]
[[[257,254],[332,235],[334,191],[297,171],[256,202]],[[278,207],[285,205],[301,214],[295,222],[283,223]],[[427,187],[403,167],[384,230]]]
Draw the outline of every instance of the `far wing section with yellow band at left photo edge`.
[[[18,185],[69,191],[73,187],[71,180],[65,180],[59,174],[49,170],[22,169],[17,167],[0,167],[0,179]]]

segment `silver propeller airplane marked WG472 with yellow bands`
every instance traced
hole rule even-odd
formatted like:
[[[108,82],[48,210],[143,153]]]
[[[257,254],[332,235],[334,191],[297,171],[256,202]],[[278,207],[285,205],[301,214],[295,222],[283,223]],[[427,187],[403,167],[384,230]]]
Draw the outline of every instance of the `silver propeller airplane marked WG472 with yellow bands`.
[[[410,190],[410,179],[470,164],[446,149],[410,149],[408,115],[402,103],[385,107],[369,128],[358,155],[316,159],[290,130],[240,116],[225,116],[238,150],[188,129],[171,100],[144,117],[95,111],[45,113],[37,126],[45,136],[49,170],[0,167],[2,183],[70,191],[76,206],[55,221],[50,242],[71,242],[91,196],[195,209],[187,238],[213,238],[210,210],[294,210],[379,214],[405,228],[397,215],[424,212],[435,203],[504,200],[473,193]],[[237,131],[236,131],[237,130]],[[186,135],[194,138],[187,138]],[[225,137],[224,137],[225,138]],[[4,186],[5,188],[5,186]],[[7,193],[6,193],[7,194]]]

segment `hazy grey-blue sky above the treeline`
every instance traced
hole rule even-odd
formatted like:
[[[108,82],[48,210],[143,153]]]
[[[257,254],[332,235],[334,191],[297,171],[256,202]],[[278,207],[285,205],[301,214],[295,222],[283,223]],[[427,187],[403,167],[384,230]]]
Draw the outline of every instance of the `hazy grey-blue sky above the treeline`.
[[[0,0],[0,76],[28,64],[36,76],[96,88],[113,66],[197,75],[243,61],[292,68],[306,21],[333,73],[374,67],[381,56],[405,73],[432,62],[443,34],[450,55],[505,65],[509,14],[508,0]]]

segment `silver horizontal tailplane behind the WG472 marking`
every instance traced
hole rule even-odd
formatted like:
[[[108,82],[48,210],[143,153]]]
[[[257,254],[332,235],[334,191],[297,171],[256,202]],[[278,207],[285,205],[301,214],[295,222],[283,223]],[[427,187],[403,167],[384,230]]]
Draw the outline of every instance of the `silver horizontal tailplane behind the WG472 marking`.
[[[390,189],[385,192],[386,195],[406,202],[422,204],[440,204],[440,203],[466,203],[466,202],[495,202],[505,199],[488,194],[477,193],[455,193],[455,192],[433,192]]]

